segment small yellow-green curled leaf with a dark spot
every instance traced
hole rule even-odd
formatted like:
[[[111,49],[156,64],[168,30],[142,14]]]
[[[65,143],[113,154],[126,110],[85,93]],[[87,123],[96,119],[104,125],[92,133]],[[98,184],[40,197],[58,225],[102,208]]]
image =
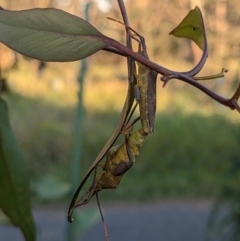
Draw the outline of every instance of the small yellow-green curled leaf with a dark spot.
[[[206,35],[199,7],[195,7],[195,9],[191,10],[182,22],[169,34],[179,38],[191,39],[201,50],[204,50]]]

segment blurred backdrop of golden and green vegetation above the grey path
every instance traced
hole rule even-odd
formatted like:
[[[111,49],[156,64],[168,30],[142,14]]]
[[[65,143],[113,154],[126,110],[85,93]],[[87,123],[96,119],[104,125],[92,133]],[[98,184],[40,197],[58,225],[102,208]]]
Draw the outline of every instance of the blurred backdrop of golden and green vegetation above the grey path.
[[[53,7],[83,17],[87,2],[0,0],[0,5],[11,10]],[[189,70],[201,57],[192,42],[168,35],[196,5],[202,10],[209,44],[209,57],[200,75],[216,74],[227,68],[225,78],[204,84],[229,98],[240,75],[240,6],[236,0],[126,1],[131,27],[145,37],[150,59],[177,71]],[[122,20],[117,1],[91,1],[90,23],[124,43],[124,27],[106,17]],[[12,127],[31,169],[33,204],[67,209],[72,197],[70,160],[76,106],[78,91],[83,88],[79,88],[77,81],[81,62],[45,63],[0,45],[0,65]],[[125,58],[100,51],[87,58],[87,66],[78,181],[115,127],[127,90]],[[224,201],[231,205],[230,212],[222,219],[230,217],[237,225],[240,220],[238,120],[236,111],[179,80],[171,80],[165,88],[158,81],[155,134],[148,137],[137,163],[124,176],[120,187],[101,193],[102,203],[107,206],[115,202],[207,200],[216,204],[210,220],[213,225],[218,207]]]

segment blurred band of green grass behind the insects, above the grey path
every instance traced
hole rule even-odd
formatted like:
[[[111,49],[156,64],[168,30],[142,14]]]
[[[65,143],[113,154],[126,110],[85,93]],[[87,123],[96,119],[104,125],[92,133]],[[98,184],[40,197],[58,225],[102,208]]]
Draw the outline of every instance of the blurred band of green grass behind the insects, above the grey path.
[[[60,108],[41,99],[37,101],[14,95],[7,98],[11,107],[12,124],[15,126],[16,138],[26,153],[34,183],[42,179],[42,173],[52,173],[62,182],[68,183],[72,143],[70,137],[73,134],[69,123],[74,120],[74,107]],[[175,93],[175,98],[178,95],[182,94]],[[94,97],[98,99],[100,95]],[[114,99],[111,100],[113,101]],[[190,99],[185,101],[190,102]],[[175,111],[164,110],[157,113],[155,134],[147,138],[134,168],[123,178],[119,189],[101,193],[101,200],[111,202],[130,199],[140,202],[214,198],[222,186],[222,177],[234,161],[233,154],[238,153],[239,127],[217,114],[209,116],[209,113],[185,113],[185,109],[180,109],[181,105],[173,103],[172,108]],[[36,109],[34,112],[33,108]],[[89,107],[86,113],[79,181],[117,122],[118,109],[108,109],[110,107],[105,111],[92,112]],[[215,110],[219,111],[218,108]],[[210,112],[213,112],[212,109]],[[54,131],[51,131],[52,126],[56,127]],[[99,129],[102,131],[98,131],[96,135],[96,130]],[[32,141],[31,133],[37,136],[37,142]],[[142,188],[135,192],[136,180]],[[236,180],[231,179],[229,185],[234,183]],[[35,193],[34,190],[33,192]],[[129,196],[129,193],[132,195]],[[64,201],[69,202],[69,198],[70,196]]]

